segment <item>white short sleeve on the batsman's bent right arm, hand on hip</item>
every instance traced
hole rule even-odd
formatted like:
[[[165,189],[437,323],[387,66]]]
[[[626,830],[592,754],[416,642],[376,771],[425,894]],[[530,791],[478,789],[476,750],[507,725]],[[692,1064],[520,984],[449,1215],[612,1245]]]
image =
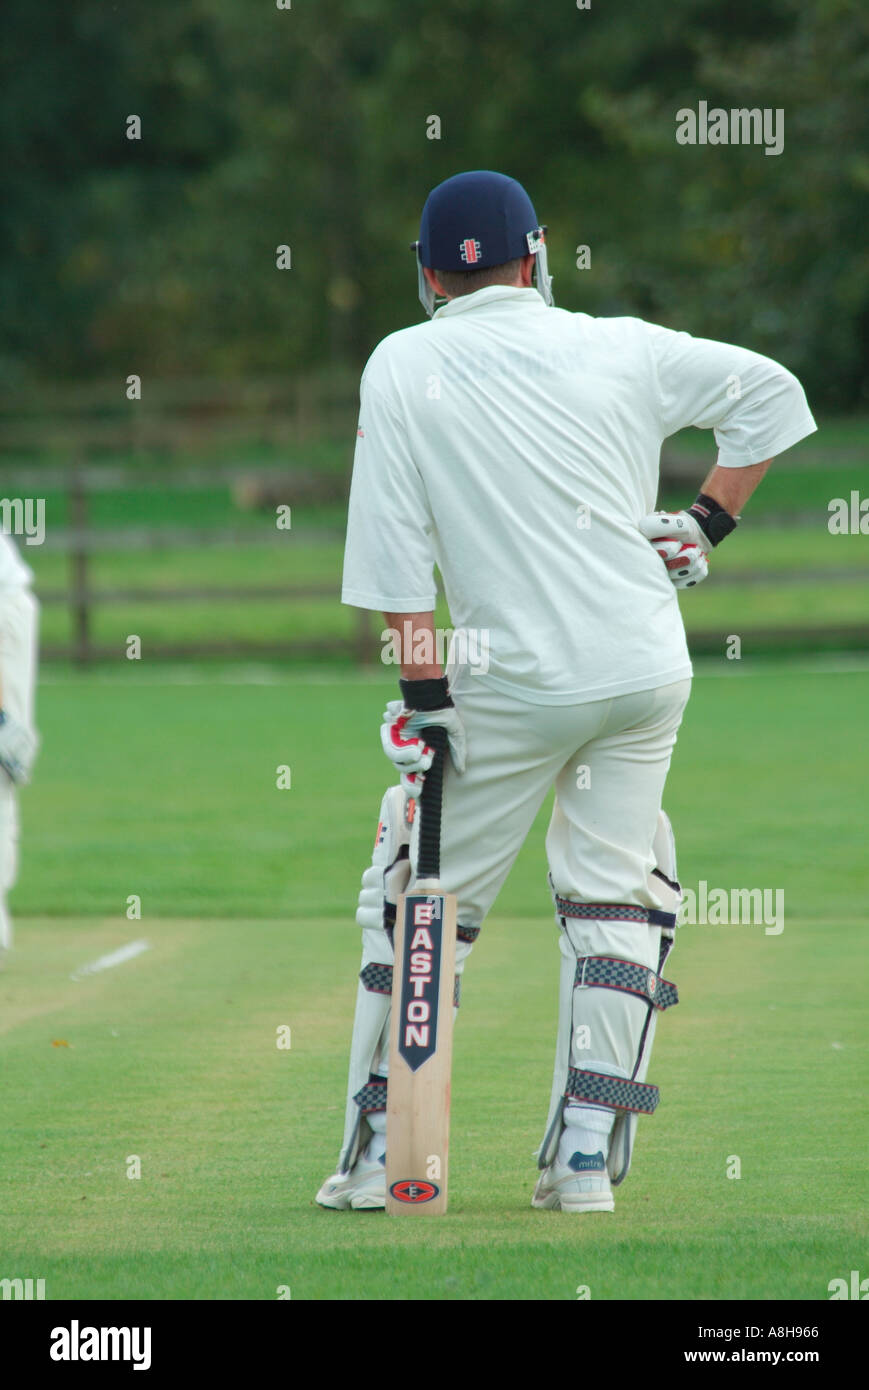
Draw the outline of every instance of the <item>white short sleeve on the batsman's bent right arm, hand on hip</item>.
[[[772,357],[647,324],[665,438],[713,430],[717,463],[741,468],[774,459],[818,425],[793,373]]]

